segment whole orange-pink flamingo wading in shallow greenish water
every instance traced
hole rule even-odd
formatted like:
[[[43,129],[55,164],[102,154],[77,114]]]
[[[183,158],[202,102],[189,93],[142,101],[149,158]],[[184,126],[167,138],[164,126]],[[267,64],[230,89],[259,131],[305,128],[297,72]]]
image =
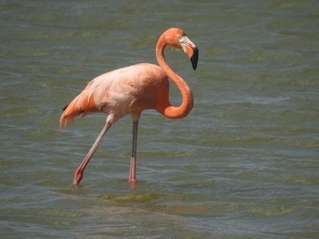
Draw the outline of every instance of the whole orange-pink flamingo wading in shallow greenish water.
[[[166,46],[183,48],[192,62],[192,68],[197,68],[199,50],[185,32],[179,28],[170,28],[163,32],[156,44],[156,59],[159,66],[154,64],[136,64],[95,77],[80,95],[64,107],[60,117],[60,131],[74,117],[88,113],[107,113],[107,120],[100,135],[95,140],[89,153],[75,171],[73,184],[77,185],[83,178],[83,172],[91,160],[109,128],[120,118],[129,114],[133,120],[133,147],[129,182],[136,183],[136,142],[138,135],[138,120],[142,111],[154,109],[171,119],[183,118],[193,107],[192,90],[186,82],[167,65],[164,57]],[[168,78],[181,91],[183,102],[181,106],[172,106],[169,100]]]

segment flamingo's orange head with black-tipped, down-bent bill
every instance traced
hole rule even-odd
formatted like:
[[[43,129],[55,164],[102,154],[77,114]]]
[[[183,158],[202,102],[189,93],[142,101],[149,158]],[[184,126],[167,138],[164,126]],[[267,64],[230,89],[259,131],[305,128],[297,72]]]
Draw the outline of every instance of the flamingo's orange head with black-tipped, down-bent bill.
[[[185,54],[188,55],[190,61],[192,62],[192,67],[194,70],[197,68],[197,62],[199,60],[199,50],[195,46],[183,30],[179,28],[170,28],[163,33],[165,36],[165,42],[167,45],[174,46],[176,48],[183,48]]]

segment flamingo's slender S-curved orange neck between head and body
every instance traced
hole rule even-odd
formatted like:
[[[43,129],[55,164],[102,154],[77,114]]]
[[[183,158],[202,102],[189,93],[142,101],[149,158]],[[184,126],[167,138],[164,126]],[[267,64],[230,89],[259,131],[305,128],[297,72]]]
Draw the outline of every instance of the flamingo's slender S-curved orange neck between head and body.
[[[167,105],[162,106],[159,110],[160,113],[166,117],[176,119],[176,118],[183,118],[190,111],[192,110],[192,107],[194,105],[194,100],[192,96],[192,90],[190,90],[190,87],[186,82],[174,71],[168,66],[167,62],[165,61],[164,57],[164,49],[167,46],[165,43],[165,39],[163,35],[158,39],[157,45],[156,45],[156,59],[158,61],[158,64],[161,66],[161,68],[166,73],[167,77],[170,77],[173,82],[177,85],[179,90],[181,91],[181,95],[183,97],[183,102],[181,106],[172,106],[169,101],[167,101]]]

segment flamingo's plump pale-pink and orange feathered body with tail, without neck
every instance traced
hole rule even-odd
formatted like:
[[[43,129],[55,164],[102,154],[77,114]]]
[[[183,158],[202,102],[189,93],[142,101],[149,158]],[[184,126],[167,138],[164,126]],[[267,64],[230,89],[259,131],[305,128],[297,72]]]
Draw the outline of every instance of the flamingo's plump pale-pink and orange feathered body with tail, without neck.
[[[60,124],[68,124],[77,115],[107,113],[114,124],[124,115],[139,115],[146,109],[169,105],[169,82],[161,67],[136,64],[112,70],[93,79],[82,93],[66,106]]]

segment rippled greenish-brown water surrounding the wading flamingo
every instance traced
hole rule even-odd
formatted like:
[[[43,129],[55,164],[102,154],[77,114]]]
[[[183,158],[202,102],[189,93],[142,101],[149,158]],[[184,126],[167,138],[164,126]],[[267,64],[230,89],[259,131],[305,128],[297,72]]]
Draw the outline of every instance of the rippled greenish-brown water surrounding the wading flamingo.
[[[318,1],[1,1],[0,233],[8,237],[319,237]],[[177,26],[199,48],[167,60],[192,88],[183,120],[132,125],[62,108],[113,68],[156,63]],[[171,99],[181,102],[176,86]]]

